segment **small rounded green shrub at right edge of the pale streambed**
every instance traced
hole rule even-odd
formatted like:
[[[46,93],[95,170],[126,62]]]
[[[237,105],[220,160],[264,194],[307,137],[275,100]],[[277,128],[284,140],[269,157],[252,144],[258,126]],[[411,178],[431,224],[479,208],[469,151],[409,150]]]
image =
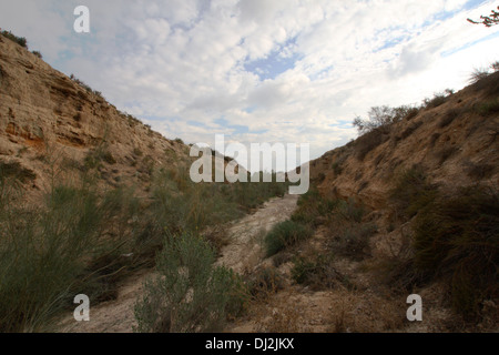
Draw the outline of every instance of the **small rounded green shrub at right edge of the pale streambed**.
[[[282,250],[295,245],[309,236],[313,230],[304,224],[285,221],[276,224],[265,236],[265,250],[267,257],[273,256]]]

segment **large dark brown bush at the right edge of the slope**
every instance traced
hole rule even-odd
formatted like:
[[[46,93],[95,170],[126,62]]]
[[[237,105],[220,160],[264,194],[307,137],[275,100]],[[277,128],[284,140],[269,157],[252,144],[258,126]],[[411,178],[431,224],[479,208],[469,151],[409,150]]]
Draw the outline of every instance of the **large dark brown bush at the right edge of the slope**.
[[[434,200],[416,217],[415,267],[449,285],[454,308],[467,318],[499,296],[499,193],[473,186]]]

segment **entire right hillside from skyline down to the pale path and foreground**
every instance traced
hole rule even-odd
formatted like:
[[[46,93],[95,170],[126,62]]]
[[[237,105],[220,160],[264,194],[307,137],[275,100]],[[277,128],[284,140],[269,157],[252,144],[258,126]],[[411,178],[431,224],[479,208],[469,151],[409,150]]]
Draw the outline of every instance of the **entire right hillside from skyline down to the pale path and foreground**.
[[[373,110],[381,124],[310,163],[310,191],[264,237],[257,301],[231,331],[498,331],[499,72],[482,77]],[[411,294],[422,322],[406,317]]]

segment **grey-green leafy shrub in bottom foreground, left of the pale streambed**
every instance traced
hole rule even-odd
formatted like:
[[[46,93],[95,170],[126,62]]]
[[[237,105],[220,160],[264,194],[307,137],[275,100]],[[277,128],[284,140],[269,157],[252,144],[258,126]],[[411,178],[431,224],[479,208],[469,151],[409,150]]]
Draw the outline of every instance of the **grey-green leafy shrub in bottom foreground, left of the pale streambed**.
[[[156,257],[160,276],[145,283],[135,304],[135,331],[220,332],[228,310],[243,300],[238,278],[231,270],[213,265],[213,251],[197,236],[170,236],[164,244]]]

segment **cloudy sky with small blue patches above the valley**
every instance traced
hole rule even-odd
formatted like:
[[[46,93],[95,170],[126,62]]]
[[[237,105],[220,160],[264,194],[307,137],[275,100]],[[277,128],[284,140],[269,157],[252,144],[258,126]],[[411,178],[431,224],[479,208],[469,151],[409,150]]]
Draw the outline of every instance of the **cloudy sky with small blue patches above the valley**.
[[[91,32],[73,30],[90,10]],[[499,60],[479,0],[17,0],[0,28],[170,139],[309,143],[357,136],[375,105],[464,88]]]

